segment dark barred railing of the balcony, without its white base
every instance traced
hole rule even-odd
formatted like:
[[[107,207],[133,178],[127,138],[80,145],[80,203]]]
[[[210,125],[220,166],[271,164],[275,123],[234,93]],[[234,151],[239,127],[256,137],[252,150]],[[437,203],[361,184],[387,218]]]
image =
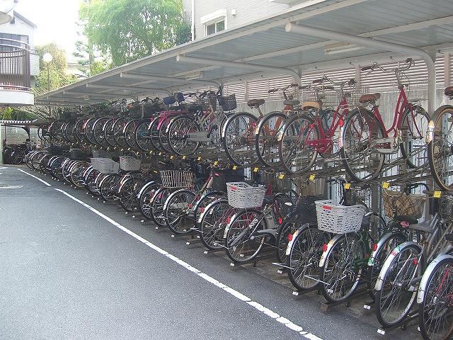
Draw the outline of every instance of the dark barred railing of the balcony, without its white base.
[[[31,91],[30,47],[0,38],[0,90]]]

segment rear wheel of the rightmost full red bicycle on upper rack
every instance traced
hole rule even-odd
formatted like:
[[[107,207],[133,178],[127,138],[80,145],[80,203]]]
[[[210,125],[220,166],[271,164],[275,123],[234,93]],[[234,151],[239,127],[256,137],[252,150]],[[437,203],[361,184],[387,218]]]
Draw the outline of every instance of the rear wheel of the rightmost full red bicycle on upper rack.
[[[373,148],[372,142],[385,137],[384,127],[364,108],[352,112],[343,126],[341,158],[346,172],[357,182],[379,176],[384,166],[384,154]]]

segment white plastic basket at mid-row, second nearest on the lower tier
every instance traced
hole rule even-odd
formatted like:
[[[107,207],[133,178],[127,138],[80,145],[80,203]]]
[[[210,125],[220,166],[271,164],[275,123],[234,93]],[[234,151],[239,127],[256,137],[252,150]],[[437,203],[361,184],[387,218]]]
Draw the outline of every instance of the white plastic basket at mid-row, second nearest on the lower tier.
[[[231,207],[244,209],[263,205],[266,189],[250,186],[245,182],[228,182],[226,192],[228,193],[228,204]]]

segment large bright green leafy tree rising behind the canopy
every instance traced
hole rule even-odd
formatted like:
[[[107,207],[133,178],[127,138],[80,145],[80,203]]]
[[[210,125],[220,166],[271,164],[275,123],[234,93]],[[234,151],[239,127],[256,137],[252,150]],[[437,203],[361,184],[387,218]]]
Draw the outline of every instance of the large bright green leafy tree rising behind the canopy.
[[[113,67],[190,39],[181,0],[86,0],[79,17],[89,44]]]

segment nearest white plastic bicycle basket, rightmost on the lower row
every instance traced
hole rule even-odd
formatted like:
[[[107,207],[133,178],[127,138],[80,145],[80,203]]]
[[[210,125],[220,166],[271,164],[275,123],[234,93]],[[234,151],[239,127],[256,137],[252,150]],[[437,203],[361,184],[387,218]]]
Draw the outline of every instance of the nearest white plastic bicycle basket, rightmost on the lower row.
[[[316,200],[318,229],[334,234],[358,232],[362,227],[365,206],[340,205],[332,200]]]

